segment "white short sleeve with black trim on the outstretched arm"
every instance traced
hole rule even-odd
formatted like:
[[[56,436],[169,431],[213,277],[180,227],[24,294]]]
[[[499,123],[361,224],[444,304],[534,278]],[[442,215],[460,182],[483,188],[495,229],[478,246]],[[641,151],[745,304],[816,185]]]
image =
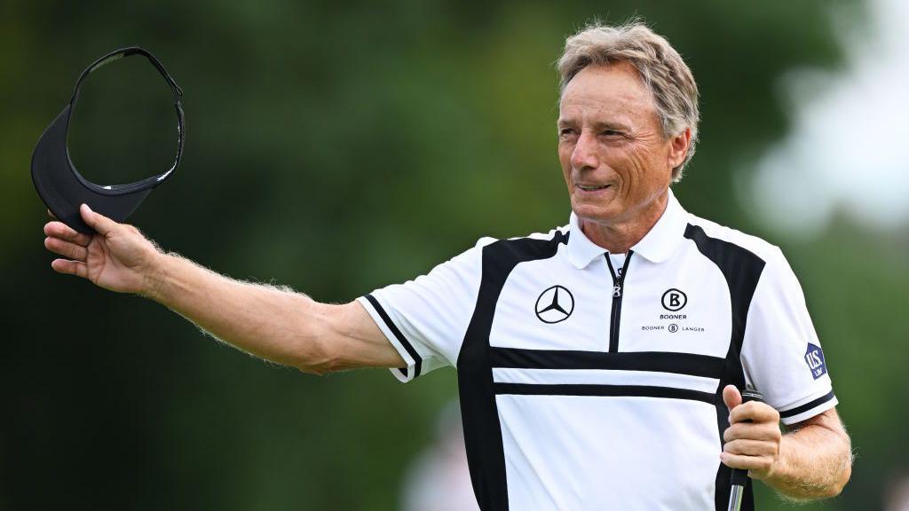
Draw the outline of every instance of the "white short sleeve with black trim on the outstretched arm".
[[[425,276],[357,299],[407,363],[392,369],[402,382],[457,365],[480,289],[483,246],[491,241],[481,239]]]

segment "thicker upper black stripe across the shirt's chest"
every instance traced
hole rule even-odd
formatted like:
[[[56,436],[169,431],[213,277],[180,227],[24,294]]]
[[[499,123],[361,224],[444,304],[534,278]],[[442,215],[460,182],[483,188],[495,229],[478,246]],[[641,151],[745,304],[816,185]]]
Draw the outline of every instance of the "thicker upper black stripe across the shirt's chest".
[[[617,352],[490,348],[493,367],[521,369],[623,369],[719,378],[725,359],[693,353]]]

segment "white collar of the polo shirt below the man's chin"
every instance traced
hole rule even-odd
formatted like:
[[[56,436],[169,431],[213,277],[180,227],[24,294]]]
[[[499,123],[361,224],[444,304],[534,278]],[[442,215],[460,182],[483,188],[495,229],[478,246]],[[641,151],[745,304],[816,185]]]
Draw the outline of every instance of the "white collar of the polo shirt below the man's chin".
[[[656,221],[650,231],[641,241],[632,246],[634,253],[644,256],[652,263],[662,263],[675,253],[675,249],[684,237],[685,227],[688,225],[688,214],[679,204],[669,189],[669,200],[660,219]],[[568,236],[566,253],[568,260],[574,267],[582,269],[589,265],[595,258],[606,253],[606,250],[590,241],[578,223],[577,215],[571,214],[568,225],[571,235]]]

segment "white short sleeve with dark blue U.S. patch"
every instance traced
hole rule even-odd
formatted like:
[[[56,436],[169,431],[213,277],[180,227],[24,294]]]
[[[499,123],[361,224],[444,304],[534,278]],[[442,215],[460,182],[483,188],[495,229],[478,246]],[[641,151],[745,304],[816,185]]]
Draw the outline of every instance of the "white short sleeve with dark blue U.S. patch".
[[[779,249],[766,261],[745,323],[742,364],[751,386],[795,424],[836,406],[804,292]]]

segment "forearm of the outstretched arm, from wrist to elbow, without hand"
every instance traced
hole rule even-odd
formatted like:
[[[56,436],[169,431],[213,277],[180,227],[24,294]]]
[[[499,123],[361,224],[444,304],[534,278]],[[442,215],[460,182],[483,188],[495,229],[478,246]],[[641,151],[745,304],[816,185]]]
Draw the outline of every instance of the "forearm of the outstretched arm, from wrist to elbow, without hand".
[[[322,373],[330,324],[326,308],[300,293],[240,282],[179,255],[160,255],[142,294],[211,335],[255,356]]]

